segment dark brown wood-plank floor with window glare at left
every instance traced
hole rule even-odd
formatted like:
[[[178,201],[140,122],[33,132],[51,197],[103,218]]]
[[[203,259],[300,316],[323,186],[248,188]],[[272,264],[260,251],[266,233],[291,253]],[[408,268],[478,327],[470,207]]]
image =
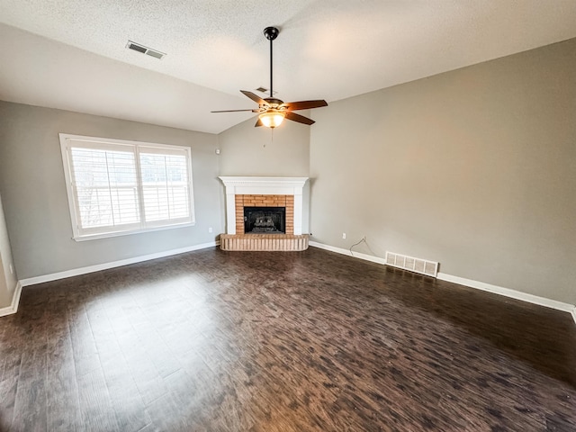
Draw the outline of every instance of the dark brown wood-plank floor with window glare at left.
[[[24,288],[0,377],[1,430],[576,430],[569,314],[317,248]]]

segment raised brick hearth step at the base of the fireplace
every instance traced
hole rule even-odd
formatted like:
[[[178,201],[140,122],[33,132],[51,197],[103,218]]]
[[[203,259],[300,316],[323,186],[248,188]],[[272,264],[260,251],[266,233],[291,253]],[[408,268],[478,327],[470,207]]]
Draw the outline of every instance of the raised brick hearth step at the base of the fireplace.
[[[308,234],[220,234],[222,250],[297,251],[308,248]]]

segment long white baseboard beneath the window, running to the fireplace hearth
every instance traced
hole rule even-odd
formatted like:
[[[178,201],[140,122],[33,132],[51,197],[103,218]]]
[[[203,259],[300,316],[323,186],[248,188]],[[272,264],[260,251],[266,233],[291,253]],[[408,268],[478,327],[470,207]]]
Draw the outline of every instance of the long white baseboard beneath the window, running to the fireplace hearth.
[[[29,277],[27,279],[21,280],[20,284],[22,284],[22,286],[43,284],[45,282],[57,281],[58,279],[64,279],[71,276],[85,275],[87,273],[99,272],[101,270],[107,270],[109,268],[128,266],[130,264],[137,264],[144,261],[149,261],[151,259],[170,257],[172,255],[184,254],[185,252],[192,252],[193,250],[205,249],[207,247],[216,247],[218,245],[220,245],[220,241],[211,241],[210,243],[202,243],[201,245],[180,247],[178,249],[171,249],[171,250],[165,250],[163,252],[157,252],[156,254],[143,255],[140,257],[133,257],[128,259],[121,259],[120,261],[112,261],[110,263],[103,263],[95,266],[73,268],[72,270],[67,270],[65,272]]]

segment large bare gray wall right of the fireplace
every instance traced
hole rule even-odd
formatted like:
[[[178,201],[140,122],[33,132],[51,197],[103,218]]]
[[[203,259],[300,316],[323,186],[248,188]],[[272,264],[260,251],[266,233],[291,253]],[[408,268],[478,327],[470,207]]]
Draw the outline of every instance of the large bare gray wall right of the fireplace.
[[[312,239],[576,303],[574,71],[568,40],[317,110]]]

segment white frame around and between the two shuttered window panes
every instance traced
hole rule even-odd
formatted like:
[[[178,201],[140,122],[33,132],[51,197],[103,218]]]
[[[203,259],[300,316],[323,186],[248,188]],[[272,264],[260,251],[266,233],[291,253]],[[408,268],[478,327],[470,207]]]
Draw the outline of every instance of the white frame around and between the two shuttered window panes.
[[[76,241],[84,241],[95,238],[109,238],[116,236],[125,236],[130,234],[137,234],[140,232],[157,231],[160,229],[175,229],[182,227],[193,226],[194,219],[194,205],[193,205],[193,173],[192,173],[192,155],[191,149],[184,146],[173,146],[168,144],[157,144],[152,142],[130,141],[124,139],[108,139],[98,137],[86,137],[82,135],[72,135],[67,133],[59,133],[60,150],[62,152],[62,163],[64,167],[64,176],[66,178],[66,190],[68,199],[68,209],[70,211],[70,220],[72,223],[73,237]],[[78,205],[78,198],[75,193],[75,185],[73,184],[73,160],[71,148],[94,148],[94,149],[108,149],[120,150],[128,149],[134,154],[135,170],[136,170],[136,188],[139,196],[139,222],[111,225],[107,227],[87,228],[81,227],[80,210]],[[143,200],[143,184],[142,172],[140,170],[139,155],[140,152],[144,153],[158,153],[162,155],[169,154],[183,154],[186,157],[186,166],[188,174],[188,203],[189,214],[187,218],[180,218],[177,220],[145,220],[144,200]]]

